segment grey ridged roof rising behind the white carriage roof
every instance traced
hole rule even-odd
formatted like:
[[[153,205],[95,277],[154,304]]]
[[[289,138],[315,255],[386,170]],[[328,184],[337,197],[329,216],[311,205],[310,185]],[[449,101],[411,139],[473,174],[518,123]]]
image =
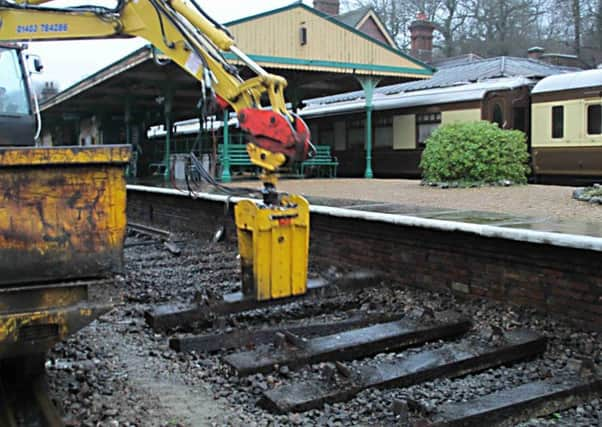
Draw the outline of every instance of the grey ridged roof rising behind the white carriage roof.
[[[462,65],[441,67],[429,80],[400,83],[375,89],[375,93],[394,95],[417,90],[446,88],[466,85],[489,79],[504,77],[525,77],[539,80],[555,74],[575,71],[573,67],[561,67],[528,58],[500,56],[464,63]],[[354,91],[305,101],[306,104],[334,104],[363,98],[364,92]]]

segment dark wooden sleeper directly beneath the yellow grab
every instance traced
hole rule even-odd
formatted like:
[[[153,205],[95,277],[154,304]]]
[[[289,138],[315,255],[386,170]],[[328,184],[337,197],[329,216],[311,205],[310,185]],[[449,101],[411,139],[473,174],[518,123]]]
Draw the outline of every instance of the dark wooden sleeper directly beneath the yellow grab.
[[[155,332],[165,332],[177,327],[190,326],[195,322],[208,321],[214,316],[244,313],[251,310],[282,306],[304,298],[336,294],[340,291],[353,291],[375,287],[382,281],[382,274],[372,271],[355,271],[332,281],[315,279],[308,281],[307,293],[290,298],[257,301],[246,297],[242,292],[226,294],[218,301],[201,301],[186,306],[165,304],[144,313],[146,323]]]

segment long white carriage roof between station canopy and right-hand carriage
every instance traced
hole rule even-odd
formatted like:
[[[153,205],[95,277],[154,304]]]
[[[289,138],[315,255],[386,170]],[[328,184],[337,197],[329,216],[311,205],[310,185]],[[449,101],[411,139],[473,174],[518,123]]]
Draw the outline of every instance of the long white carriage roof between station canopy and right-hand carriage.
[[[523,86],[533,85],[533,80],[525,77],[505,77],[490,79],[479,83],[464,84],[447,88],[425,89],[396,94],[376,93],[373,99],[375,110],[388,110],[396,108],[411,108],[424,105],[448,104],[452,102],[467,102],[481,100],[490,91],[511,90]],[[366,107],[362,98],[336,104],[310,104],[301,111],[301,116],[319,117],[328,115],[346,114],[363,111]]]

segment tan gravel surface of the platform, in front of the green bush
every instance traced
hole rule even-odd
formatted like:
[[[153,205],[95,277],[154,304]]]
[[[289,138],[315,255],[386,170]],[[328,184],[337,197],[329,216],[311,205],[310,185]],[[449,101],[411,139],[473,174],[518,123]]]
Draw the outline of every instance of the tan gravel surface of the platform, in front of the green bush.
[[[231,185],[260,186],[257,181]],[[600,222],[602,218],[602,206],[573,200],[572,187],[551,185],[440,189],[421,186],[420,181],[416,180],[283,179],[278,189],[314,197],[500,212],[580,222]]]

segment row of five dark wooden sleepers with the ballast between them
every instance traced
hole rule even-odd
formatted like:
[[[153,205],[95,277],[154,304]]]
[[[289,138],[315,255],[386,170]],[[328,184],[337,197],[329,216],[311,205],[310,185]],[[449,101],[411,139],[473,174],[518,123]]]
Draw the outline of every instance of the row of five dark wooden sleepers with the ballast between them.
[[[229,273],[235,271],[234,266]],[[437,299],[448,298],[441,308],[455,310],[418,301],[387,303],[407,290],[370,272],[318,277],[314,283],[305,299],[267,305],[242,302],[231,292],[222,299],[215,288],[209,299],[197,295],[188,303],[153,304],[146,322],[169,339],[173,351],[215,361],[226,379],[222,385],[249,384],[242,387],[247,406],[293,421],[307,414],[323,420],[333,407],[345,412],[377,393],[389,402],[369,419],[384,423],[514,426],[558,417],[602,393],[595,360],[571,353],[575,357],[562,369],[548,368],[558,338],[550,339],[546,328],[523,328],[518,319],[473,321],[466,313],[478,303],[456,306],[450,295]],[[182,330],[188,332],[177,332]],[[453,389],[467,378],[502,378],[508,370],[518,373],[510,384],[463,390],[459,397],[442,393],[425,400],[418,391],[441,382]],[[394,397],[399,394],[403,398]]]

